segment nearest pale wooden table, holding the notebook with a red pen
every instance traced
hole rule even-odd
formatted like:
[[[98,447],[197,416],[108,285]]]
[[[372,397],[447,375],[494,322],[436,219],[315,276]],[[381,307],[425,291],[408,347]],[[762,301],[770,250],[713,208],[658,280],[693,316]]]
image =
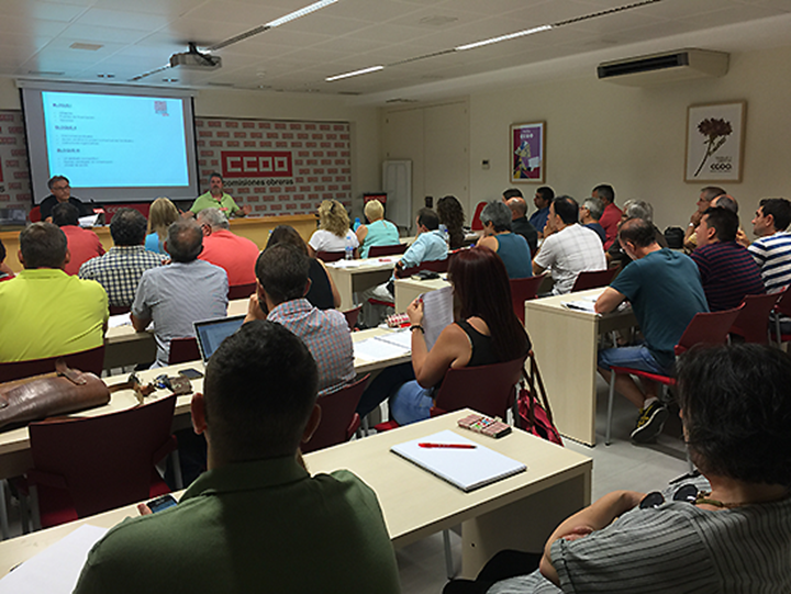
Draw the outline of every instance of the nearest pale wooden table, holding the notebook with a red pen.
[[[504,548],[541,550],[555,526],[590,504],[592,460],[515,430],[491,439],[456,427],[471,411],[449,413],[305,456],[312,473],[348,469],[376,491],[393,546],[461,524],[463,569],[472,578]],[[464,493],[390,452],[393,445],[453,429],[524,462],[527,471]],[[136,516],[134,505],[0,543],[0,576],[82,524],[111,527]]]

